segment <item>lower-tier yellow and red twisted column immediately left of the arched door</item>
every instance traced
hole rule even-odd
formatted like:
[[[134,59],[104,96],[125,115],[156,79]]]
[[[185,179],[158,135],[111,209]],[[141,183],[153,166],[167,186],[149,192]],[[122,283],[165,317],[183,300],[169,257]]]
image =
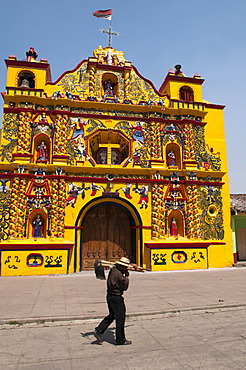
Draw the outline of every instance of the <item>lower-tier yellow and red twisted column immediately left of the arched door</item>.
[[[52,238],[64,238],[66,207],[66,181],[52,181],[52,209],[50,220],[50,235]]]

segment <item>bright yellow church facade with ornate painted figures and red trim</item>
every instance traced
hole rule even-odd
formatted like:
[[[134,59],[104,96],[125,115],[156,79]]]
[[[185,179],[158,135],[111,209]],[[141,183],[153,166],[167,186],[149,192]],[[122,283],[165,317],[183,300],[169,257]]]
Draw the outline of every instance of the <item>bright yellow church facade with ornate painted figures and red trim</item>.
[[[1,275],[66,274],[128,256],[152,271],[233,264],[224,106],[176,65],[161,88],[94,50],[52,82],[33,48],[7,66]]]

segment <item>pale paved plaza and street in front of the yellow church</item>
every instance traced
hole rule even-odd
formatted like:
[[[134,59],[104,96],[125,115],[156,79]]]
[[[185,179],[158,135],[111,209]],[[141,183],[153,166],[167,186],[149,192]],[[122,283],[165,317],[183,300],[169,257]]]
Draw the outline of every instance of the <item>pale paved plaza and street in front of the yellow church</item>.
[[[246,369],[245,268],[131,273],[130,346],[100,346],[105,281],[92,272],[0,279],[0,369]]]

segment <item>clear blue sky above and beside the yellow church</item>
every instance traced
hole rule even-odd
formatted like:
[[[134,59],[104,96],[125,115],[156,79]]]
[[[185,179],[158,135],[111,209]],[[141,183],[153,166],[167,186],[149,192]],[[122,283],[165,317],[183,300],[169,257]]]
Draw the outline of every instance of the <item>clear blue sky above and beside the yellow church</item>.
[[[205,100],[226,105],[230,192],[246,193],[246,0],[0,0],[0,90],[4,59],[24,59],[30,46],[38,59],[48,59],[53,81],[107,46],[99,29],[109,21],[92,16],[99,9],[113,9],[112,26],[121,36],[112,46],[157,88],[181,64],[187,76],[205,79]]]

